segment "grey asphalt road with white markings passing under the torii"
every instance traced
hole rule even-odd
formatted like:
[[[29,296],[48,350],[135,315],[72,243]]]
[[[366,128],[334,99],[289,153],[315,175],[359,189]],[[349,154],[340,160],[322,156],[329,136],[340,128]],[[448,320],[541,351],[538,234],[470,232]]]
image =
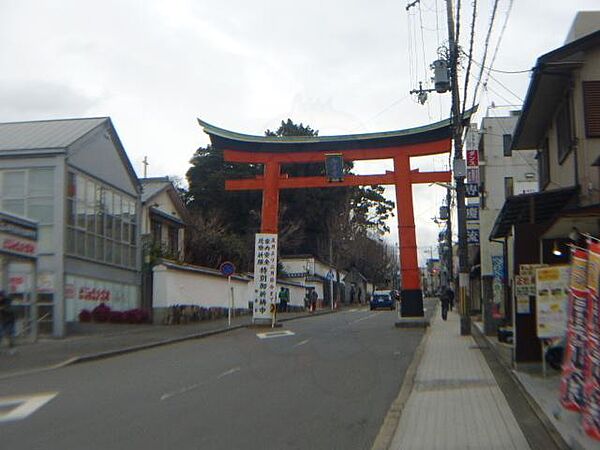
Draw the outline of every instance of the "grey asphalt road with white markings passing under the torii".
[[[369,449],[423,335],[395,317],[344,311],[0,381],[0,447]],[[47,392],[2,421],[3,398]]]

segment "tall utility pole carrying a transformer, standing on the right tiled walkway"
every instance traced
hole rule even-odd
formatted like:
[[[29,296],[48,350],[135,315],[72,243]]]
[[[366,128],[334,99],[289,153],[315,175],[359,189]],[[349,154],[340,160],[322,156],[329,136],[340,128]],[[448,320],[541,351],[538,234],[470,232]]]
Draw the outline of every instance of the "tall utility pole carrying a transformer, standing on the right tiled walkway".
[[[458,88],[458,44],[454,36],[454,13],[452,0],[446,0],[448,15],[448,43],[450,50],[450,82],[452,91],[452,130],[454,135],[454,180],[456,186],[456,208],[458,215],[458,298],[460,301],[460,334],[471,334],[471,305],[467,293],[469,284],[467,214],[465,208],[466,166],[462,154],[462,115]]]

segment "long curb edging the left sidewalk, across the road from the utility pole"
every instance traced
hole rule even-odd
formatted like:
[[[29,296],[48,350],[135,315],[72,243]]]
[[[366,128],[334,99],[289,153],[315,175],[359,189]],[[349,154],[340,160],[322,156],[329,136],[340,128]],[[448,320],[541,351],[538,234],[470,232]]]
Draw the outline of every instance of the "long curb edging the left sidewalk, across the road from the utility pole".
[[[298,317],[288,317],[285,319],[281,319],[281,320],[279,320],[279,322],[289,322],[292,320],[305,319],[307,317],[319,317],[319,316],[324,316],[326,314],[332,314],[332,313],[336,313],[336,312],[340,312],[340,311],[342,311],[342,310],[339,310],[339,309],[334,310],[334,311],[328,310],[328,311],[323,311],[323,312],[318,312],[318,313],[313,313],[313,314],[304,314],[304,315],[298,316]],[[215,330],[204,331],[201,333],[190,334],[187,336],[179,336],[176,338],[163,339],[161,341],[149,342],[147,344],[140,344],[140,345],[134,345],[134,346],[130,346],[130,347],[114,349],[114,350],[107,350],[104,352],[92,353],[89,355],[75,356],[75,357],[66,359],[64,361],[61,361],[57,364],[50,365],[50,366],[36,367],[34,369],[23,370],[20,372],[9,373],[6,375],[0,375],[0,381],[6,380],[9,378],[13,378],[13,377],[17,377],[17,376],[25,376],[25,375],[31,375],[34,373],[60,369],[60,368],[75,365],[75,364],[99,361],[101,359],[112,358],[114,356],[124,355],[127,353],[134,353],[134,352],[139,352],[142,350],[149,350],[149,349],[155,348],[155,347],[162,347],[165,345],[177,344],[177,343],[184,342],[184,341],[191,341],[193,339],[202,339],[202,338],[214,336],[216,334],[223,334],[223,333],[227,333],[229,331],[239,330],[241,328],[251,328],[251,327],[252,327],[251,323],[234,325],[231,327],[217,328]]]

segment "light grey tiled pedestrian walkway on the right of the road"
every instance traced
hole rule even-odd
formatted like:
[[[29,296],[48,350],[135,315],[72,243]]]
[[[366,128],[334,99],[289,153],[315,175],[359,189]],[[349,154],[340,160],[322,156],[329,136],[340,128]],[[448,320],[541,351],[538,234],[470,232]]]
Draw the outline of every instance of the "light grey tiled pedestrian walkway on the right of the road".
[[[432,321],[391,449],[529,449],[483,354],[459,316]]]

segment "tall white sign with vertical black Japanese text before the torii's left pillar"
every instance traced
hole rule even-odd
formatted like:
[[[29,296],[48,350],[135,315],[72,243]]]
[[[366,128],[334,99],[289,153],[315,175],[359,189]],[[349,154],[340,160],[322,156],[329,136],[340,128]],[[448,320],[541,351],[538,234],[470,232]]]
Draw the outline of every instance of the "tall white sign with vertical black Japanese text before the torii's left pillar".
[[[271,319],[277,284],[277,235],[257,233],[254,248],[254,309],[252,320]]]

